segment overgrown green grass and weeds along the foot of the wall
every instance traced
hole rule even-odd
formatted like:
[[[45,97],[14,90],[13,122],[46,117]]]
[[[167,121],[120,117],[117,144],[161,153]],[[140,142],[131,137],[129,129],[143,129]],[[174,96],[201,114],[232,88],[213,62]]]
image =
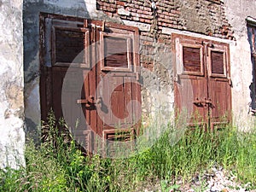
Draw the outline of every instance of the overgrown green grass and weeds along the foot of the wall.
[[[126,159],[85,157],[70,139],[59,134],[53,114],[44,143],[26,146],[26,167],[0,172],[1,191],[143,191],[160,183],[162,191],[178,189],[195,175],[224,166],[241,183],[256,185],[256,132],[189,131],[172,144],[172,131],[151,148]],[[170,127],[170,130],[171,127]]]

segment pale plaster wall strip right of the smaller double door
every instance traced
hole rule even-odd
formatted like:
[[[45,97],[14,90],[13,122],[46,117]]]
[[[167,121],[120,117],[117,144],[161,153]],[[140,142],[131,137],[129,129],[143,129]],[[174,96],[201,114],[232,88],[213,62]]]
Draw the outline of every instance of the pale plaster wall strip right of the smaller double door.
[[[253,64],[246,19],[247,16],[256,18],[256,2],[225,0],[225,9],[236,38],[236,44],[230,44],[234,124],[247,130],[255,124],[255,116],[248,114],[249,102],[252,102],[249,86],[253,83]]]

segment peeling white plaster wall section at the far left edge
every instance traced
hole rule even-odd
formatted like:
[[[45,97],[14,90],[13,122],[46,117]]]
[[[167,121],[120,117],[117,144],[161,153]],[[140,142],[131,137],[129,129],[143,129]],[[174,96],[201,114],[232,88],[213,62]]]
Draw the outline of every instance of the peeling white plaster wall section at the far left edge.
[[[0,1],[0,167],[25,165],[22,0]]]

